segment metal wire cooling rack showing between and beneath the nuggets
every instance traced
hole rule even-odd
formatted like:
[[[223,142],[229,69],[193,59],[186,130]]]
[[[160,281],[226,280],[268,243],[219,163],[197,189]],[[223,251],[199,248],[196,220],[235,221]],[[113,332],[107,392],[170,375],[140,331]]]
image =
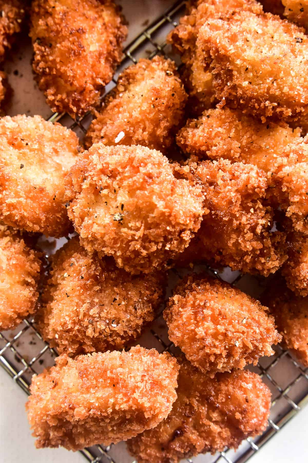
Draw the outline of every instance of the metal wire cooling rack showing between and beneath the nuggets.
[[[171,48],[166,44],[165,38],[168,32],[178,24],[178,20],[185,11],[185,2],[178,1],[163,16],[147,26],[135,40],[124,50],[124,56],[120,68],[117,70],[112,82],[106,88],[110,91],[116,84],[119,73],[132,63],[137,63],[139,58],[152,58],[156,54],[178,59],[172,55]],[[74,130],[82,139],[91,122],[91,114],[76,121],[66,114],[54,113],[48,120],[60,121],[63,125]],[[60,240],[42,240],[42,247],[46,257],[64,244],[66,238]],[[201,266],[194,269],[204,269]],[[231,272],[224,269],[223,272],[207,269],[216,277],[230,282],[254,297],[263,291],[266,279],[256,278],[250,275],[241,275],[239,272]],[[178,277],[187,273],[187,270],[170,270],[169,291]],[[170,294],[170,293],[169,293]],[[167,294],[168,296],[168,294]],[[169,342],[166,324],[162,314],[151,325],[138,343],[145,347],[155,347],[160,352],[169,351],[176,353],[174,344]],[[136,343],[137,344],[137,343]],[[193,459],[187,459],[189,463],[244,463],[254,455],[268,439],[272,438],[279,430],[308,402],[308,369],[302,369],[292,355],[275,346],[275,355],[261,358],[256,367],[250,368],[258,373],[272,391],[272,409],[266,431],[255,439],[247,439],[236,450],[225,449],[215,455],[205,454]],[[36,330],[33,319],[24,320],[14,331],[0,333],[0,365],[20,386],[29,394],[31,376],[38,374],[48,366],[54,364],[56,351],[51,349],[42,340]],[[91,463],[132,463],[133,458],[128,455],[124,443],[109,445],[95,445],[81,451],[84,457]],[[154,463],[154,462],[153,462]]]

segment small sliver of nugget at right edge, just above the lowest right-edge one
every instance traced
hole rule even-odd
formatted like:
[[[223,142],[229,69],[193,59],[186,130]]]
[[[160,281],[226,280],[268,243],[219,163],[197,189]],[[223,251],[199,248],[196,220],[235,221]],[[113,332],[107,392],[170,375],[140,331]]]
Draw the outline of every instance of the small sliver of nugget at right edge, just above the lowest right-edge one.
[[[308,296],[308,237],[291,232],[288,244],[288,260],[282,267],[282,275],[295,294]]]

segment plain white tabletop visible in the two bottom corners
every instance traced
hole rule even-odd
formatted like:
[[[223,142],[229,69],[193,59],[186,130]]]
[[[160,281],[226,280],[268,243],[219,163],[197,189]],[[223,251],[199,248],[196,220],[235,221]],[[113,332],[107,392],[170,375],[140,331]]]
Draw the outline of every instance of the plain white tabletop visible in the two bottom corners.
[[[0,368],[0,462],[1,463],[85,463],[78,452],[34,447],[24,404],[27,396]],[[249,463],[307,463],[308,407],[265,444]],[[117,463],[122,463],[117,461]],[[155,463],[155,462],[153,462]]]

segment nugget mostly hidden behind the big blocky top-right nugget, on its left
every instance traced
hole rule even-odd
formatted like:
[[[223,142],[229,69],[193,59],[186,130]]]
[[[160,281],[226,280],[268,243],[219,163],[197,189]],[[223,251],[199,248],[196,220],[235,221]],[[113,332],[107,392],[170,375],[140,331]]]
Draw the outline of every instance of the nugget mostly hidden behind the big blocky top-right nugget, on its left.
[[[231,13],[239,8],[258,13],[262,11],[262,7],[254,0],[198,0],[187,3],[186,15],[169,33],[167,42],[173,44],[184,63],[183,80],[189,94],[188,110],[199,114],[214,102],[212,75],[205,69],[203,50],[197,43],[200,28],[208,19],[221,14]]]

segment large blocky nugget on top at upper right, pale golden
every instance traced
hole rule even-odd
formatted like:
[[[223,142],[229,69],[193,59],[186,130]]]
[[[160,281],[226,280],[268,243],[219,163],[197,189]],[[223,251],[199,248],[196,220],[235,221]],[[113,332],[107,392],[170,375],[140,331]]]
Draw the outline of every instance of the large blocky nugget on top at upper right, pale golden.
[[[257,117],[308,113],[308,37],[271,13],[209,19],[198,34],[222,105]]]

